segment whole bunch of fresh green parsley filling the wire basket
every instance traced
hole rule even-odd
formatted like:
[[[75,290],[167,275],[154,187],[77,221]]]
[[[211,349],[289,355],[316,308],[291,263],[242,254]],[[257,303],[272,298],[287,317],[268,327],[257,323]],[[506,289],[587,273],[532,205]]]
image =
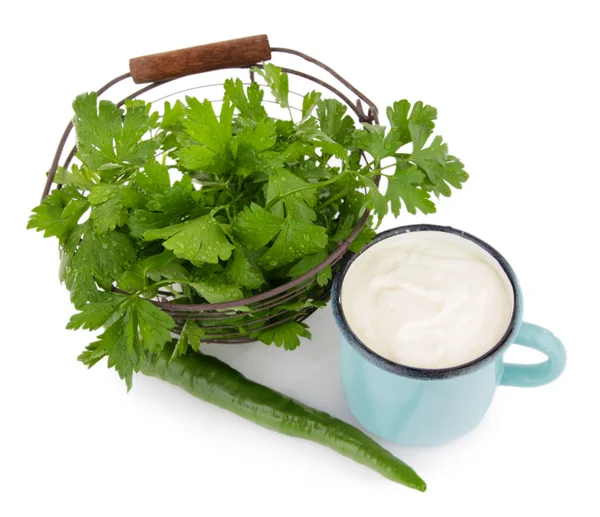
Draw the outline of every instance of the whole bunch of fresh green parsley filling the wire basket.
[[[128,387],[176,327],[176,356],[197,351],[208,333],[231,332],[176,322],[148,299],[220,303],[271,289],[322,262],[365,210],[373,215],[354,251],[389,211],[433,213],[432,197],[468,178],[442,138],[430,138],[431,106],[402,100],[387,109],[389,128],[357,127],[343,104],[313,91],[294,120],[287,74],[272,64],[256,71],[290,120],[269,117],[261,87],[239,79],[225,82],[219,115],[194,97],[161,113],[140,100],[123,110],[95,93],[73,103],[79,163],[59,168],[62,188],[33,209],[28,227],[58,238],[60,278],[79,311],[68,328],[104,328],[79,359],[92,366],[108,357]],[[293,303],[252,314],[240,307],[227,324],[293,349],[310,337],[305,324],[253,329],[323,305],[331,274],[321,271]]]

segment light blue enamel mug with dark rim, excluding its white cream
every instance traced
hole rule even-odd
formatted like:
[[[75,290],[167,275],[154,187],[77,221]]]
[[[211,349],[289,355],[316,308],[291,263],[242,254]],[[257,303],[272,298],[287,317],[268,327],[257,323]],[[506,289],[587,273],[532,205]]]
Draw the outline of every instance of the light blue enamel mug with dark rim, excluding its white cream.
[[[345,398],[363,427],[406,446],[437,445],[471,431],[485,415],[498,385],[541,386],[556,379],[566,363],[565,349],[558,338],[522,321],[523,297],[514,271],[500,253],[477,237],[445,226],[403,226],[379,234],[361,253],[394,235],[419,231],[452,233],[483,248],[506,273],[514,304],[503,337],[477,359],[442,369],[406,366],[378,355],[352,331],[341,294],[346,273],[360,254],[343,264],[334,280],[332,305],[340,329]],[[539,364],[505,363],[504,353],[513,343],[539,350],[547,360]]]

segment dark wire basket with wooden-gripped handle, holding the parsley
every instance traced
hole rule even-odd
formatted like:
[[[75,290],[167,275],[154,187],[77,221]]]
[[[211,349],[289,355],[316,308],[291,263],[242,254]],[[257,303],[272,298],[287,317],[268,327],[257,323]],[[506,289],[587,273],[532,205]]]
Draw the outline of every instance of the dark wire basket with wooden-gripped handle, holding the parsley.
[[[288,48],[271,47],[266,35],[251,36],[133,58],[129,62],[130,71],[107,82],[97,90],[97,94],[100,96],[127,79],[132,79],[135,84],[149,83],[123,98],[117,103],[120,107],[129,99],[138,98],[146,92],[155,90],[163,85],[171,85],[176,80],[187,76],[217,70],[235,70],[239,73],[243,69],[250,69],[252,66],[261,67],[260,63],[270,60],[272,53],[292,55],[324,70],[341,85],[342,89],[355,95],[357,100],[353,102],[340,87],[331,85],[314,75],[293,68],[281,67],[282,71],[304,78],[318,85],[318,87],[333,93],[350,108],[359,122],[375,124],[379,122],[375,104],[337,72],[302,52]],[[254,73],[251,69],[249,70],[249,80],[251,82],[255,81]],[[176,92],[163,95],[156,100],[163,100],[183,92],[220,84],[222,83],[180,89]],[[299,97],[301,96],[299,95]],[[366,112],[363,105],[366,106]],[[62,162],[62,166],[66,169],[75,158],[76,147],[70,149],[65,155],[65,147],[72,129],[73,123],[69,122],[60,139],[50,166],[42,199],[50,193],[59,164]],[[61,188],[61,185],[57,185],[56,188]],[[205,342],[236,344],[254,341],[255,338],[252,336],[256,335],[257,332],[276,327],[285,322],[302,321],[316,310],[317,307],[311,304],[295,309],[286,307],[300,297],[305,297],[313,301],[327,301],[329,299],[330,283],[326,286],[319,286],[316,282],[316,277],[319,272],[328,266],[331,266],[335,270],[336,265],[348,252],[350,245],[364,226],[368,217],[369,213],[365,212],[350,235],[339,242],[338,246],[323,262],[303,275],[270,290],[232,302],[201,304],[175,303],[172,301],[174,297],[172,293],[159,291],[158,296],[150,301],[171,315],[176,321],[178,327],[174,329],[175,333],[181,332],[181,327],[185,321],[194,320],[203,328],[205,332],[203,341]],[[113,290],[123,292],[116,287],[113,287]],[[278,308],[280,310],[277,310]],[[243,320],[243,322],[240,320]]]

